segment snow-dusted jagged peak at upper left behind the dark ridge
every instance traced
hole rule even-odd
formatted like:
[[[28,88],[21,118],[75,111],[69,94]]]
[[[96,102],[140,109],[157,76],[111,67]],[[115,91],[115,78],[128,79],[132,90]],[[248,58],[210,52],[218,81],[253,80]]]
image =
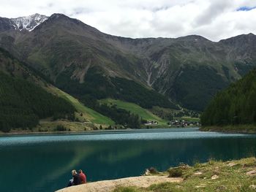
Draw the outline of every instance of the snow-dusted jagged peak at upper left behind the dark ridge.
[[[39,26],[42,22],[47,20],[48,17],[45,15],[39,15],[38,13],[30,15],[28,17],[11,18],[12,25],[15,29],[23,31],[33,31],[34,28]]]

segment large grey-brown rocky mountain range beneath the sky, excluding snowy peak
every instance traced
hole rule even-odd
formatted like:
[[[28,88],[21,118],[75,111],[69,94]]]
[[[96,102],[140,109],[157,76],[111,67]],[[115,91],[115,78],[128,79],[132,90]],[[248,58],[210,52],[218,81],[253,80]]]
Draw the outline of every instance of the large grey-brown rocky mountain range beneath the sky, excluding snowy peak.
[[[255,41],[254,34],[220,42],[195,35],[115,37],[61,14],[51,15],[32,31],[20,31],[0,18],[0,47],[69,93],[97,91],[105,93],[102,97],[118,97],[134,83],[191,110],[203,110],[217,91],[256,66]],[[86,87],[92,81],[97,85]],[[113,87],[110,95],[107,90]]]

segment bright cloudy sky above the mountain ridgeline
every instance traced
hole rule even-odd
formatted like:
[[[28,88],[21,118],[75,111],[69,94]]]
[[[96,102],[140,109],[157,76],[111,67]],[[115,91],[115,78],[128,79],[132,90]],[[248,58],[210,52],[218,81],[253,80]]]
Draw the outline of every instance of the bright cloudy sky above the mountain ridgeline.
[[[0,17],[63,13],[121,37],[181,37],[212,41],[256,34],[256,0],[0,0]]]

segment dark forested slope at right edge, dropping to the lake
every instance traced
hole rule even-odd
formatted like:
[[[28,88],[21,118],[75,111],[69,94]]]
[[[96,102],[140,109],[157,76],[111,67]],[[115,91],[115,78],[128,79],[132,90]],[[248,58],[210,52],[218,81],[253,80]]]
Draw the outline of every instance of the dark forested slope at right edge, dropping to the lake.
[[[201,115],[203,126],[256,123],[256,69],[217,93]]]

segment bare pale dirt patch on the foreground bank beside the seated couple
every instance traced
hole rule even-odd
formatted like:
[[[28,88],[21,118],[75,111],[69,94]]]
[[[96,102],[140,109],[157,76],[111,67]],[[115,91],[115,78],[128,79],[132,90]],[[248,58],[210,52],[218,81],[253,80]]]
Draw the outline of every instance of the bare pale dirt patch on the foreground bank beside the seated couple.
[[[103,180],[83,185],[76,185],[69,188],[63,188],[56,192],[105,192],[113,191],[118,186],[138,186],[146,188],[152,184],[165,182],[181,182],[182,178],[170,178],[167,176],[140,176],[127,177],[118,180]]]

